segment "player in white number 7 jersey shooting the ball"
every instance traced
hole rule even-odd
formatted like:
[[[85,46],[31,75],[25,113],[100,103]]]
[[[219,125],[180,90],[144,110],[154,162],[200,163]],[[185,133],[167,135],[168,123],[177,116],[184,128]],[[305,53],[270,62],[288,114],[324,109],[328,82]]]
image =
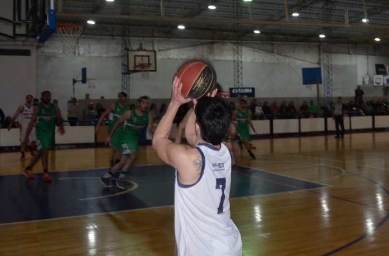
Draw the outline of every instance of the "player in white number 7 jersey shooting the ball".
[[[159,157],[176,168],[175,233],[179,256],[241,256],[242,240],[230,217],[231,155],[224,144],[230,108],[219,98],[193,100],[185,137],[191,145],[168,139],[181,104],[182,84],[173,81],[172,99],[154,133]],[[212,96],[216,90],[212,92]]]

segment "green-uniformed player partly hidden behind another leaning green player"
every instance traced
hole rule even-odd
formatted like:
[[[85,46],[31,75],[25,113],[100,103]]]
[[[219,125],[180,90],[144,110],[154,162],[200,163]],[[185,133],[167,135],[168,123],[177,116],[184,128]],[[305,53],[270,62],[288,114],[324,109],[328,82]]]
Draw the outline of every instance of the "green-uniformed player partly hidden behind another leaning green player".
[[[106,108],[106,111],[100,116],[99,121],[97,122],[95,133],[99,133],[99,127],[101,123],[104,121],[104,118],[108,116],[108,133],[111,132],[113,125],[115,124],[116,120],[120,117],[120,115],[128,110],[126,106],[127,101],[127,94],[124,92],[119,93],[118,95],[118,101],[115,103],[112,103],[108,108]],[[120,137],[120,130],[122,128],[119,128],[116,130],[116,132],[113,134],[111,139],[111,154],[109,156],[109,162],[110,167],[112,167],[114,164],[118,163],[120,161],[120,144],[119,144],[119,137]],[[116,160],[116,161],[115,161]]]

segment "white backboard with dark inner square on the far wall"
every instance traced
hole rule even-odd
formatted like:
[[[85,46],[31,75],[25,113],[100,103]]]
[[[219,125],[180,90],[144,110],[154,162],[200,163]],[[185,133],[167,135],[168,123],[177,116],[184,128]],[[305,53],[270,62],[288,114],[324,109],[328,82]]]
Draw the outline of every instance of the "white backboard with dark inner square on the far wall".
[[[129,71],[157,71],[156,52],[155,51],[128,51],[128,70]]]

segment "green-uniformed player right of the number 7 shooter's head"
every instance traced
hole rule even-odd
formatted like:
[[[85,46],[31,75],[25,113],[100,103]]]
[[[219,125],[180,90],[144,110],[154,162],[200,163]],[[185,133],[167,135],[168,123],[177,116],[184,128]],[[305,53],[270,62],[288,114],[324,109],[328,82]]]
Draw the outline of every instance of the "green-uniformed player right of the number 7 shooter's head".
[[[251,111],[247,107],[247,101],[245,99],[240,99],[240,104],[238,108],[232,113],[232,120],[236,118],[236,124],[233,123],[236,127],[236,130],[239,136],[242,139],[243,144],[245,145],[250,159],[255,159],[254,154],[250,150],[250,145],[248,142],[251,140],[250,130],[248,126],[256,133],[254,126],[251,122]]]

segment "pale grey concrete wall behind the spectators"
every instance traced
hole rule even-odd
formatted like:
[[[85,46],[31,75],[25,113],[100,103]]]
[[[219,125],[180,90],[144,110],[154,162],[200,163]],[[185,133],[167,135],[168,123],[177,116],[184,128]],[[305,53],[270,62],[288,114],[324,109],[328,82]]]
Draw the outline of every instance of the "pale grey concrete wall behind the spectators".
[[[233,44],[229,42],[205,42],[192,40],[132,39],[132,49],[142,43],[147,50],[157,52],[157,72],[150,72],[149,79],[143,79],[141,73],[131,74],[130,95],[132,100],[147,95],[157,100],[157,108],[166,102],[171,94],[171,81],[178,67],[188,60],[205,60],[213,65],[217,80],[228,90],[233,87]],[[33,75],[25,81],[36,86],[34,93],[50,90],[53,98],[59,100],[63,112],[67,102],[73,96],[72,79],[81,79],[81,68],[88,69],[88,84],[76,82],[74,94],[83,99],[88,93],[91,99],[104,96],[116,98],[122,90],[121,75],[121,38],[119,37],[83,37],[79,39],[76,56],[62,54],[62,42],[53,35],[43,47],[37,48],[36,80]],[[338,45],[333,47],[333,95],[350,99],[355,87],[362,83],[367,72],[375,73],[374,64],[389,64],[386,47]],[[302,101],[316,99],[316,85],[302,85],[302,67],[317,67],[322,63],[322,50],[319,44],[308,43],[244,43],[242,49],[243,86],[255,87],[256,97],[260,101],[283,99],[294,100],[296,106]],[[8,61],[0,58],[1,66]],[[5,73],[18,81],[20,70],[34,70],[33,64],[18,69],[8,69]],[[8,81],[7,84],[10,82]],[[13,82],[14,83],[14,82]],[[1,87],[5,84],[2,82]],[[365,97],[382,98],[383,90],[372,86],[363,86]],[[0,102],[6,115],[11,115],[24,101],[24,95],[31,93],[30,87],[20,87],[18,96],[4,97]],[[21,94],[21,96],[20,96]],[[324,96],[323,86],[319,86],[319,96]],[[3,108],[4,110],[4,108]],[[66,116],[66,114],[64,114]]]

